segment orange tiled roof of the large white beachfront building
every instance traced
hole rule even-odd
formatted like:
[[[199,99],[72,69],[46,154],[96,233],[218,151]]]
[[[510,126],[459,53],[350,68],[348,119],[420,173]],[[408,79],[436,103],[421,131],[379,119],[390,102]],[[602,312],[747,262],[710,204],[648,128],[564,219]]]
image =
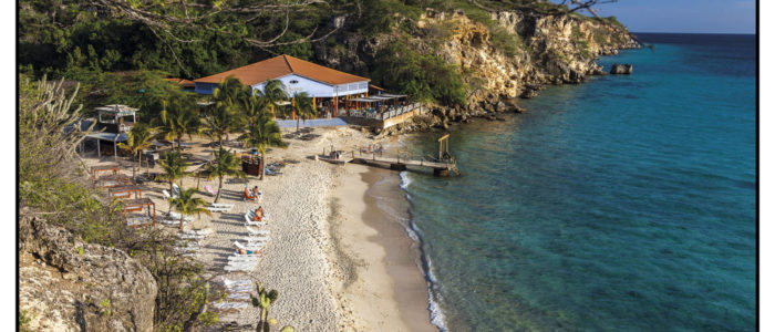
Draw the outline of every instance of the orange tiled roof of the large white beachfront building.
[[[369,81],[369,79],[365,77],[355,76],[283,54],[219,74],[197,79],[194,80],[194,82],[221,83],[226,77],[234,75],[245,85],[256,85],[288,74],[298,74],[331,85]]]

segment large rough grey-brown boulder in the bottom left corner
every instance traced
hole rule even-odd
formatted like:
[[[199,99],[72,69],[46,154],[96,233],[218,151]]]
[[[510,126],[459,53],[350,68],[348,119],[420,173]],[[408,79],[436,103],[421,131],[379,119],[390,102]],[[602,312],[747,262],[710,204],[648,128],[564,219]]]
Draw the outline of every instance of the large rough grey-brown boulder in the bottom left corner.
[[[125,252],[19,221],[19,305],[34,331],[152,331],[157,287]]]

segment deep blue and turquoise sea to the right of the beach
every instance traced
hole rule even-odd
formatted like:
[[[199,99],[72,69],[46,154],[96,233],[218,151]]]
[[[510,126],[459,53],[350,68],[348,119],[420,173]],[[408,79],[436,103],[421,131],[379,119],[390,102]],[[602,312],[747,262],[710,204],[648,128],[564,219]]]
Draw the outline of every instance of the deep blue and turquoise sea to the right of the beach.
[[[640,37],[600,60],[632,75],[453,127],[462,177],[403,174],[450,331],[755,329],[755,37]]]

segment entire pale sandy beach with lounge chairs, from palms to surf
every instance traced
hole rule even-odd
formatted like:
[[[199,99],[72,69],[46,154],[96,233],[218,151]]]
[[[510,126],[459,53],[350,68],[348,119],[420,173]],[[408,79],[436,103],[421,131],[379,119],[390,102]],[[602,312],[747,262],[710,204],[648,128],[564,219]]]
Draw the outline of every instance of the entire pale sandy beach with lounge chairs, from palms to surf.
[[[286,134],[293,132],[283,129]],[[314,128],[312,134],[317,137],[310,141],[286,138],[288,148],[268,152],[268,163],[287,162],[282,174],[264,180],[248,177],[248,185],[258,186],[264,193],[259,204],[241,199],[244,183],[225,180],[218,203],[234,204],[234,208],[211,217],[195,216],[186,225],[186,229],[210,230],[197,258],[206,269],[205,277],[215,284],[224,278],[249,279],[278,290],[279,299],[269,311],[278,326],[289,324],[297,331],[434,331],[415,245],[403,228],[401,216],[389,216],[374,198],[392,195],[392,204],[401,210],[397,173],[314,160],[313,156],[323,148],[351,151],[374,141],[345,127]],[[184,143],[193,143],[188,152],[195,157],[211,154],[207,139],[195,137]],[[97,160],[95,156],[85,162],[89,166],[116,163],[112,157]],[[125,166],[122,173],[131,176],[130,160],[120,158],[118,163]],[[151,172],[162,170],[157,165]],[[390,179],[394,181],[394,193],[384,188],[370,191],[379,181]],[[204,186],[217,189],[218,184],[217,179],[197,184],[193,177],[183,184],[185,188],[197,185],[204,191]],[[168,183],[145,183],[141,188],[143,196],[156,204],[157,217],[168,210],[162,196],[162,190],[169,188]],[[214,199],[206,194],[200,196],[209,203]],[[269,214],[268,224],[260,228],[270,231],[271,240],[255,270],[227,272],[224,267],[235,251],[234,241],[248,236],[244,214],[259,205]],[[406,214],[405,199],[403,212]],[[157,227],[176,231],[175,226]],[[248,307],[224,312],[219,321],[255,326],[258,315],[257,309]]]

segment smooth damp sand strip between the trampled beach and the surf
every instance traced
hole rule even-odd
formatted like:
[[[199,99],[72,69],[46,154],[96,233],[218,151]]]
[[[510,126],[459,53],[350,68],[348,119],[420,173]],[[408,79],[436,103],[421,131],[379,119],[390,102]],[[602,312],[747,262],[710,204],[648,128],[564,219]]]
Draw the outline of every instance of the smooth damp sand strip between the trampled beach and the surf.
[[[338,290],[341,297],[335,297],[342,310],[340,328],[438,331],[431,323],[420,243],[407,234],[409,201],[400,176],[362,165],[335,172],[331,216],[338,220],[329,227],[338,241],[332,243],[332,263],[349,271]]]

